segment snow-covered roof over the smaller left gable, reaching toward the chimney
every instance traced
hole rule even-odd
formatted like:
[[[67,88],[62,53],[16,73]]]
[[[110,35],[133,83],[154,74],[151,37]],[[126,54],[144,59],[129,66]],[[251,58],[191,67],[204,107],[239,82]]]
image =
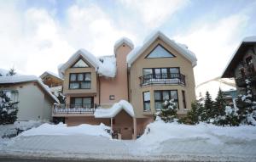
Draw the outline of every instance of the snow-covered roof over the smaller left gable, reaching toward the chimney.
[[[78,52],[74,53],[70,59],[67,60],[65,64],[61,64],[59,66],[59,75],[63,78],[65,70],[69,68],[75,61],[77,61],[80,57],[88,61],[95,70],[100,74],[108,77],[114,77],[116,74],[116,61],[113,57],[104,57],[101,62],[96,58],[93,54],[89,53],[84,49],[79,49]]]

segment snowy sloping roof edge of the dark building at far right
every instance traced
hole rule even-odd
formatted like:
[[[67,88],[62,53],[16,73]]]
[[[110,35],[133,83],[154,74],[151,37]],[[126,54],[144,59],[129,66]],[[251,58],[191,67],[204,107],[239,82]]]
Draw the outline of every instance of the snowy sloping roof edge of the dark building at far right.
[[[224,68],[224,71],[223,71],[221,77],[226,77],[226,74],[225,74],[225,73],[226,73],[226,71],[228,71],[228,69],[230,69],[230,68],[229,68],[229,67],[230,67],[230,64],[231,64],[232,62],[234,62],[233,60],[235,60],[236,55],[237,55],[239,49],[241,48],[242,44],[245,44],[245,43],[252,43],[252,42],[253,42],[253,43],[256,43],[256,36],[247,36],[247,37],[245,37],[245,38],[242,39],[242,41],[240,42],[239,46],[236,47],[235,52],[232,54],[232,56],[231,56],[231,58],[230,58],[228,64],[227,64],[226,67]]]

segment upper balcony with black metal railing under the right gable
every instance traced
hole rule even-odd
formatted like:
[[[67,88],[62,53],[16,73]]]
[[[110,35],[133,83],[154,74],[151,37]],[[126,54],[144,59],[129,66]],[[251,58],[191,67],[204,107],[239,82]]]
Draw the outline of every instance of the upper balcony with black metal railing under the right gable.
[[[185,75],[180,73],[149,74],[139,77],[141,87],[149,85],[186,85]]]

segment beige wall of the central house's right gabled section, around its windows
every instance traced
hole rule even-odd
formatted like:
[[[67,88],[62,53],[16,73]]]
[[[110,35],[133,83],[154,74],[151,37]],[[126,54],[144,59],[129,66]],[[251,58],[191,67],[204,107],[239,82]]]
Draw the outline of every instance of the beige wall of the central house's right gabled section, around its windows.
[[[165,47],[175,58],[160,58],[160,59],[144,59],[154,47],[158,44]],[[161,85],[161,86],[148,86],[140,87],[139,76],[143,75],[143,68],[165,68],[165,67],[179,67],[180,73],[185,75],[186,85]],[[172,47],[168,46],[166,42],[157,39],[153,42],[147,50],[133,63],[130,70],[130,101],[133,105],[137,118],[145,117],[144,115],[152,115],[154,113],[154,90],[177,90],[179,114],[186,113],[187,110],[183,109],[182,90],[185,91],[187,109],[191,109],[191,103],[195,101],[195,78],[191,62],[185,59],[183,55],[177,53]],[[150,112],[143,112],[143,92],[150,91]]]

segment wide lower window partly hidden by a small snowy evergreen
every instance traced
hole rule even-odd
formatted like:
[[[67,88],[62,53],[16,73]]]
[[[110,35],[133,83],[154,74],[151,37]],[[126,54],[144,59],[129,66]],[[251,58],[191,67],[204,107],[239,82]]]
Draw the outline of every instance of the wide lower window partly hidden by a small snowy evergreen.
[[[154,91],[154,109],[160,110],[166,100],[174,100],[178,109],[177,90],[157,90]]]

